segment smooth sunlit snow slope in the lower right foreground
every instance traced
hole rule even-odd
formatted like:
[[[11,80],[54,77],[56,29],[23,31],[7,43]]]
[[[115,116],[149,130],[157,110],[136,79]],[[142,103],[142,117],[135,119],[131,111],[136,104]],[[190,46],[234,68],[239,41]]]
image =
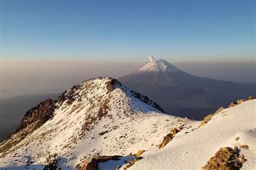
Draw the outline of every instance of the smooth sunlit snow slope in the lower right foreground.
[[[163,150],[145,152],[144,159],[129,169],[201,169],[221,147],[248,145],[241,148],[247,161],[242,169],[256,169],[256,100],[224,109],[200,128],[182,130]],[[198,127],[193,124],[193,129]],[[235,140],[240,137],[239,140]]]

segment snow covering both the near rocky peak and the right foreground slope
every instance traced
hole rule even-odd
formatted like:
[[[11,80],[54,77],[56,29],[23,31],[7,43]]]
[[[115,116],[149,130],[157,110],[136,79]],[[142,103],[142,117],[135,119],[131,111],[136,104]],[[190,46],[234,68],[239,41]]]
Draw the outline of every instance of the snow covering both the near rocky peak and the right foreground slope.
[[[81,83],[71,105],[59,105],[52,119],[8,152],[0,153],[0,169],[43,169],[46,158],[55,153],[61,169],[75,169],[93,155],[122,155],[118,161],[99,163],[99,169],[117,165],[123,168],[125,161],[131,159],[125,156],[138,150],[145,150],[140,155],[143,159],[130,170],[201,169],[221,147],[241,145],[249,146],[248,150],[241,148],[247,159],[242,169],[256,169],[256,100],[224,109],[199,127],[200,122],[163,114],[151,106],[152,101],[142,102],[122,84],[107,90],[109,81],[106,77]],[[99,108],[105,101],[107,114],[99,117]],[[97,119],[90,122],[93,117]],[[90,126],[86,126],[88,121]],[[181,132],[159,150],[157,146],[164,136],[182,125]],[[18,137],[15,134],[11,139]],[[235,140],[237,137],[240,139]],[[28,162],[31,164],[26,166]]]

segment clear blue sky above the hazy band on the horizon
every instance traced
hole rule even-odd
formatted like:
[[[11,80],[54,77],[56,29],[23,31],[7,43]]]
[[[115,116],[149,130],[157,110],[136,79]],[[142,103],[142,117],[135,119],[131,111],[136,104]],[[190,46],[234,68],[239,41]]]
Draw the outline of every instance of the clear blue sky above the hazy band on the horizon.
[[[1,1],[1,59],[255,57],[254,1]]]

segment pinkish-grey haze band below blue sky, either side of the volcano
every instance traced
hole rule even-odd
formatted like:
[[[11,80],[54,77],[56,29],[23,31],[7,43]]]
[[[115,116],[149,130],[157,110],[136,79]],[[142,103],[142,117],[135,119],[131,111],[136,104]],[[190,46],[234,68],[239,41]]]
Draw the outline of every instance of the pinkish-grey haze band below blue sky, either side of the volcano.
[[[117,79],[132,73],[146,62],[146,57],[144,62],[132,60],[1,62],[1,98],[61,93],[74,84],[93,77],[111,76]],[[201,77],[238,83],[256,83],[255,62],[173,61],[170,63],[187,73]]]

